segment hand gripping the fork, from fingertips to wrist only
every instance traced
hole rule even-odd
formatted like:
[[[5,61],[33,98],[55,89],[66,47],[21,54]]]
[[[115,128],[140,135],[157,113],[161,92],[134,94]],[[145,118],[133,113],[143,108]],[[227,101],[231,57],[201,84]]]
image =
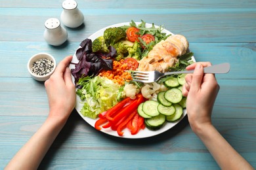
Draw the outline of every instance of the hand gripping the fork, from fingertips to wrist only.
[[[203,73],[203,67],[210,65],[209,62],[202,62],[186,67],[187,70],[194,69],[193,74],[186,75],[186,83],[182,88],[182,94],[187,97],[188,121],[194,132],[211,124],[211,112],[219,92],[215,75]]]

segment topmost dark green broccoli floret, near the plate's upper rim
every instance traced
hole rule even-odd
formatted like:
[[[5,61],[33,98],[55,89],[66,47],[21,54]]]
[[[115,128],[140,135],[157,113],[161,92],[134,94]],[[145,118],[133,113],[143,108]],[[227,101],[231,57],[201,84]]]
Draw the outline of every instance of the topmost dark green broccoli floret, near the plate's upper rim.
[[[103,33],[107,46],[113,46],[116,42],[126,37],[125,29],[121,27],[110,27]]]

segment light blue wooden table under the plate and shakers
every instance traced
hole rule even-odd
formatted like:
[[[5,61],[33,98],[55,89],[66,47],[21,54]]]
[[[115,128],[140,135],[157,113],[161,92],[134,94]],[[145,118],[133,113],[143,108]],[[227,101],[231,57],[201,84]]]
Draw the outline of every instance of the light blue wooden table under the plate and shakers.
[[[185,35],[197,61],[229,62],[217,75],[221,90],[213,124],[256,167],[256,1],[77,0],[85,22],[68,30],[68,42],[43,39],[44,22],[60,18],[62,1],[0,1],[0,169],[30,139],[48,114],[44,84],[26,64],[38,52],[59,62],[108,25],[144,20]],[[37,148],[35,148],[37,149]],[[228,156],[228,155],[227,155]],[[120,139],[89,126],[74,110],[40,169],[219,169],[184,118],[148,139]]]

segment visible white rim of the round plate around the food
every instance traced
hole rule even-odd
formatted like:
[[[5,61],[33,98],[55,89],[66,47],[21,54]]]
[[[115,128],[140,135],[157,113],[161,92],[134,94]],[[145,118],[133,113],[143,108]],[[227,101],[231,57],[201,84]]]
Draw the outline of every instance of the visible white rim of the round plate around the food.
[[[120,23],[120,24],[115,24],[115,25],[110,25],[108,27],[119,27],[119,26],[123,26],[123,25],[129,25],[130,23],[129,22],[123,22],[123,23]],[[136,24],[140,24],[139,22],[136,22]],[[157,25],[155,25],[156,27],[158,27]],[[103,35],[104,33],[104,30],[108,27],[104,27],[102,29],[100,29],[99,31],[96,31],[96,33],[94,33],[93,35],[91,35],[90,37],[88,37],[88,39],[91,39],[92,41],[95,40],[97,37],[100,37],[101,35]],[[152,24],[146,24],[146,27],[152,27]],[[169,34],[172,34],[170,31],[167,31],[166,29],[163,29],[162,31],[163,33],[167,33],[167,35]],[[194,57],[193,57],[194,58]],[[73,60],[72,60],[73,63],[78,63],[78,59],[76,58],[75,54],[74,54],[74,57],[73,57]],[[70,65],[70,69],[74,69],[75,66],[74,65]],[[72,76],[72,80],[74,82],[74,77]],[[96,120],[98,119],[92,119],[92,118],[87,118],[85,116],[83,116],[83,114],[81,114],[80,110],[82,109],[83,107],[83,102],[81,101],[81,99],[79,98],[79,96],[77,95],[76,97],[76,105],[75,105],[75,109],[77,110],[77,112],[80,114],[80,116],[85,120],[85,122],[87,122],[88,124],[90,124],[91,126],[95,127],[95,122]],[[121,136],[122,138],[127,138],[127,139],[140,139],[140,138],[146,138],[146,137],[152,137],[152,136],[155,136],[155,135],[158,135],[160,133],[163,133],[169,129],[171,129],[173,126],[175,126],[176,124],[178,124],[182,118],[184,118],[184,116],[186,116],[186,109],[183,111],[183,114],[182,114],[182,117],[177,120],[176,122],[173,122],[173,123],[170,123],[170,122],[167,122],[165,124],[165,126],[161,127],[161,129],[158,129],[156,131],[152,131],[150,129],[147,129],[145,127],[144,130],[140,130],[139,133],[137,133],[136,135],[131,135],[130,131],[125,128],[123,130],[123,136]],[[115,137],[120,137],[118,134],[117,134],[117,131],[113,131],[112,129],[110,128],[107,128],[107,129],[104,129],[102,128],[101,131],[103,133],[106,133],[108,135],[112,135],[112,136],[115,136]]]

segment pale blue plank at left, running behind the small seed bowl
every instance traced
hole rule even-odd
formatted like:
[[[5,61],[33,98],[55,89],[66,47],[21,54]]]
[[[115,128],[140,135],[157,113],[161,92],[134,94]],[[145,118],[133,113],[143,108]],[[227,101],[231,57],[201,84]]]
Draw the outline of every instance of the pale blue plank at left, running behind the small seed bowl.
[[[27,69],[28,60],[37,53],[47,52],[54,56],[58,63],[66,56],[74,55],[80,42],[66,42],[58,47],[47,42],[0,42],[1,63],[0,76],[30,77]],[[10,64],[7,64],[10,63]]]

